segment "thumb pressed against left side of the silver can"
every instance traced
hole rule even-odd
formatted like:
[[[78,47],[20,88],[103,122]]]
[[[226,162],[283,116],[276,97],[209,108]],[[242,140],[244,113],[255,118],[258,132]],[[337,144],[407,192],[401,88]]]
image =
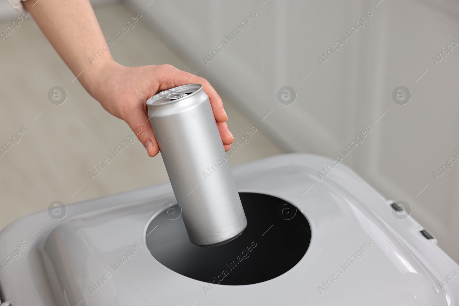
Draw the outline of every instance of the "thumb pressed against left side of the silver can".
[[[148,156],[156,156],[159,152],[159,146],[155,134],[153,134],[150,120],[148,120],[145,106],[139,103],[124,111],[123,120],[128,123],[137,139],[144,145]]]

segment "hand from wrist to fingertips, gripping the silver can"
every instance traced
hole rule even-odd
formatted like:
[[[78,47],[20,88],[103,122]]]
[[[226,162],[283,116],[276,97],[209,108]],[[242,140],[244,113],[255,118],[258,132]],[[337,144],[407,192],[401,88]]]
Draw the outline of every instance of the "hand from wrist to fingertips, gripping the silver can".
[[[149,156],[156,156],[159,148],[148,119],[146,100],[163,90],[193,83],[202,84],[209,96],[224,148],[227,151],[231,147],[234,138],[225,122],[228,116],[222,99],[206,79],[171,65],[124,67],[115,61],[103,65],[93,76],[94,82],[89,82],[92,85],[88,91],[108,112],[128,123]]]

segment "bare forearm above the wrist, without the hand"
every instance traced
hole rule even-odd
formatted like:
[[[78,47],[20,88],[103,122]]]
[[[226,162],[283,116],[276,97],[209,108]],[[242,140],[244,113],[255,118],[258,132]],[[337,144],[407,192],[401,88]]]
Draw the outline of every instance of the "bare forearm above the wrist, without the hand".
[[[24,6],[84,88],[95,96],[97,75],[113,61],[89,0],[28,0]],[[93,52],[99,52],[97,62]]]

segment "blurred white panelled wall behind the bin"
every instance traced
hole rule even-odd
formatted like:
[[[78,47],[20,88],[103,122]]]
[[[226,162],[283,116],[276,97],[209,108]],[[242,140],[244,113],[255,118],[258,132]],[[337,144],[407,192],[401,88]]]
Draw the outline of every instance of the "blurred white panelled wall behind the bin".
[[[459,158],[459,46],[437,65],[432,60],[452,40],[459,43],[457,1],[129,3],[285,150],[335,158],[371,128],[343,162],[388,200],[408,202],[459,261],[459,162],[437,180],[432,174],[452,155]],[[251,12],[249,27],[229,41],[225,35]],[[340,35],[366,12],[364,27],[344,42]],[[222,40],[228,45],[217,54]],[[318,57],[337,40],[343,45],[321,65]],[[277,98],[283,86],[296,92],[291,105]],[[408,104],[392,99],[398,86],[409,89]]]

